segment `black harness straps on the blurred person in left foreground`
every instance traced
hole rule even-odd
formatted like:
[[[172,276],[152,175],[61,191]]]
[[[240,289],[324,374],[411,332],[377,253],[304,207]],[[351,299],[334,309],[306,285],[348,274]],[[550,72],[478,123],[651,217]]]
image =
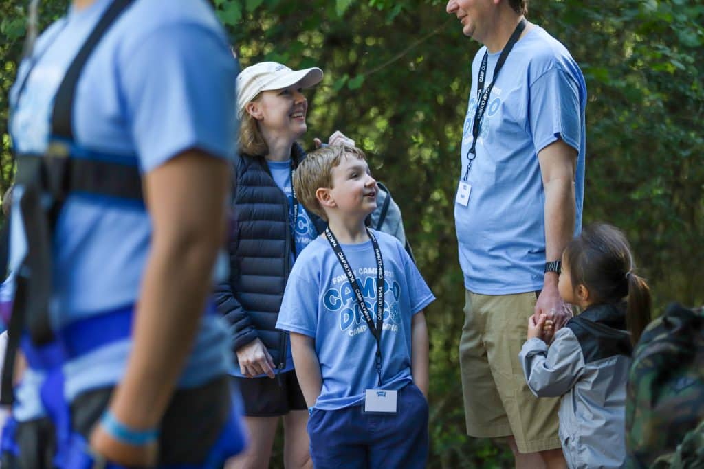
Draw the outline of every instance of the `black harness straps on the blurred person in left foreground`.
[[[54,97],[51,142],[47,154],[33,157],[21,155],[17,158],[16,180],[23,186],[20,212],[27,240],[27,255],[16,274],[17,290],[1,383],[3,404],[12,404],[14,398],[15,355],[25,327],[35,345],[46,345],[55,337],[49,323],[51,240],[66,195],[72,191],[85,191],[142,198],[137,167],[70,158],[70,144],[63,143],[73,141],[73,101],[82,69],[105,32],[130,4],[132,0],[113,1],[70,64]],[[46,200],[46,195],[49,195],[49,200]]]

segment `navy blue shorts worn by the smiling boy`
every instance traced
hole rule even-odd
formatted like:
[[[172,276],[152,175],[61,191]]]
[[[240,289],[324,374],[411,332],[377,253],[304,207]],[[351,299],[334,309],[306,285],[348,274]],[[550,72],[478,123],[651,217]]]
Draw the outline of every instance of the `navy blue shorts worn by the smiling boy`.
[[[411,383],[398,391],[395,414],[362,413],[362,406],[313,409],[308,418],[315,469],[425,468],[428,402]]]

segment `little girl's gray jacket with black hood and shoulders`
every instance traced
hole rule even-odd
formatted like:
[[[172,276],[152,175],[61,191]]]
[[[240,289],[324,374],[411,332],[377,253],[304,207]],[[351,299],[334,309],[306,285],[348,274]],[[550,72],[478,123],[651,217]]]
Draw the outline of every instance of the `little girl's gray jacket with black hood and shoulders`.
[[[524,343],[519,357],[530,390],[562,396],[560,442],[570,468],[623,467],[631,352],[625,304],[587,308],[549,348],[536,338]]]

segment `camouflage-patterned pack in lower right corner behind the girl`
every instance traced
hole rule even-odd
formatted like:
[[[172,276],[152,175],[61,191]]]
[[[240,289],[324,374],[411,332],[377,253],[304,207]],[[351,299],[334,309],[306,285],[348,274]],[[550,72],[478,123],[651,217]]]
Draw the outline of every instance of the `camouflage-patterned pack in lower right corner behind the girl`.
[[[670,456],[658,464],[672,460],[685,437],[696,439],[692,430],[702,420],[704,308],[671,304],[646,328],[634,352],[627,387],[627,467],[650,468],[665,455]]]

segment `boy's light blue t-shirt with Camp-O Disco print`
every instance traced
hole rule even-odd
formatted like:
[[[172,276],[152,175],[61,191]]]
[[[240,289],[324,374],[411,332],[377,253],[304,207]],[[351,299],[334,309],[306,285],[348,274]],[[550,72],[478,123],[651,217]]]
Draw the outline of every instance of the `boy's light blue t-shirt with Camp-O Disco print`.
[[[382,386],[398,390],[411,377],[411,319],[435,297],[393,236],[374,232],[384,259]],[[371,240],[341,245],[362,285],[367,308],[376,309],[377,262]],[[367,328],[339,260],[322,236],[298,257],[286,285],[277,328],[315,338],[322,390],[316,409],[359,404],[367,389],[379,388],[377,342]]]

